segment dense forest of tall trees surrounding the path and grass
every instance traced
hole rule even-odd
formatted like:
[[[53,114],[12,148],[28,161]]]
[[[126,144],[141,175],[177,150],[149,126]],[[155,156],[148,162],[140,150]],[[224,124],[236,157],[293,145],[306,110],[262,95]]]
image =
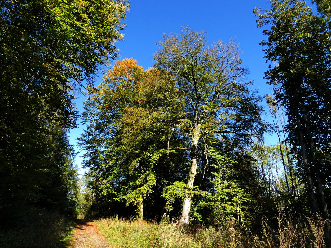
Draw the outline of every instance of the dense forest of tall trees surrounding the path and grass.
[[[234,40],[208,43],[186,26],[144,69],[116,60],[124,0],[2,1],[0,242],[42,247],[27,231],[35,223],[54,227],[45,247],[60,247],[73,218],[118,216],[228,233],[213,247],[330,245],[331,1],[313,4],[253,10],[273,89],[262,96]],[[68,131],[80,90],[88,172],[78,180]],[[307,240],[287,244],[297,230]],[[278,241],[262,245],[269,236]]]

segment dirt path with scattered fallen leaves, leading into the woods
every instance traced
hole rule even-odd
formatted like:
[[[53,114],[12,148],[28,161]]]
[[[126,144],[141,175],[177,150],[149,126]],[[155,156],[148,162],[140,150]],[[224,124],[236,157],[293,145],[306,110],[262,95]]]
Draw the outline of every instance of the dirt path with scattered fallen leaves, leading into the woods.
[[[79,221],[69,248],[109,248],[92,221]]]

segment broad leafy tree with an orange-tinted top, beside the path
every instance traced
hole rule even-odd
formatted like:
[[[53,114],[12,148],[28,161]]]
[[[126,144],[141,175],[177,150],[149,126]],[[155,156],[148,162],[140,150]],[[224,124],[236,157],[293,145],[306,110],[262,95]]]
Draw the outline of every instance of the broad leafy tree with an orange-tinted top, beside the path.
[[[171,142],[169,137],[180,116],[172,82],[155,69],[145,71],[135,60],[124,59],[97,90],[91,89],[85,104],[85,121],[91,123],[80,138],[85,166],[100,182],[101,194],[134,205],[140,219],[156,182],[164,183],[162,170],[171,170],[167,165],[175,151],[168,147],[176,137]]]

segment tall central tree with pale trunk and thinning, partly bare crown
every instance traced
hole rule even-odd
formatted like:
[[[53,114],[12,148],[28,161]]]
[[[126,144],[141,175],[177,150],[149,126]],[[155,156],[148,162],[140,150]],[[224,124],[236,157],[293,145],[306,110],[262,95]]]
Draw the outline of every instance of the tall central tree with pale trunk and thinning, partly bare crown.
[[[179,136],[187,136],[190,144],[190,171],[180,223],[188,224],[199,152],[205,149],[208,136],[220,142],[237,142],[260,134],[259,98],[250,94],[245,81],[248,71],[241,66],[238,46],[218,41],[207,46],[204,32],[185,27],[180,36],[165,35],[155,54],[155,67],[171,73],[176,91],[185,101],[184,116],[177,123]],[[203,148],[205,147],[205,148]]]

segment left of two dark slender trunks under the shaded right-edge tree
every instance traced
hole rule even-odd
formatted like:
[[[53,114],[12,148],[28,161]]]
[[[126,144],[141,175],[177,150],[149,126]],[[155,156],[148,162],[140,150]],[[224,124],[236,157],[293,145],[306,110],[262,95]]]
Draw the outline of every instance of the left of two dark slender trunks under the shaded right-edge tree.
[[[296,108],[295,112],[296,112],[295,115],[296,115],[296,120],[297,120],[297,124],[298,124],[298,129],[299,129],[298,136],[299,136],[299,142],[300,142],[300,147],[301,147],[301,155],[303,158],[304,167],[306,169],[306,175],[307,175],[310,206],[311,206],[312,212],[317,213],[318,211],[317,211],[314,187],[313,187],[312,178],[311,178],[310,165],[309,165],[308,159],[307,159],[307,152],[306,152],[306,147],[305,147],[305,143],[304,143],[304,135],[302,132],[302,125],[301,125],[301,120],[300,120],[300,116],[298,113],[298,107]]]

